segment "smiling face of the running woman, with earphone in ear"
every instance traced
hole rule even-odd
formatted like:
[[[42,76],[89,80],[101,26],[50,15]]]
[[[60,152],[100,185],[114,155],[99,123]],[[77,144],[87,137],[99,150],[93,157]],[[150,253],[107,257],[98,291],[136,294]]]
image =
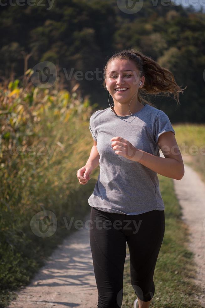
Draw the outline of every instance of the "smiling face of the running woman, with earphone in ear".
[[[134,62],[125,59],[113,60],[108,64],[105,83],[113,101],[120,103],[130,103],[133,96],[133,101],[136,102],[140,81],[144,85],[145,77],[139,77],[139,70]],[[126,90],[116,90],[116,88],[126,88]],[[135,95],[136,94],[136,95]]]

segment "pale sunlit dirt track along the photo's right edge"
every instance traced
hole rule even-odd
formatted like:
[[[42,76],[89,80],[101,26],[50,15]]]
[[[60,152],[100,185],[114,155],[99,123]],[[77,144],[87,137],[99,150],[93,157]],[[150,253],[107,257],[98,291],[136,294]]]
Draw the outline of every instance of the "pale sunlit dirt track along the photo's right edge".
[[[199,301],[205,307],[205,184],[186,164],[190,157],[183,157],[183,161],[185,174],[180,181],[173,179],[174,188],[182,207],[182,219],[189,227],[188,245],[194,252],[194,261],[197,264],[195,283],[203,289]]]

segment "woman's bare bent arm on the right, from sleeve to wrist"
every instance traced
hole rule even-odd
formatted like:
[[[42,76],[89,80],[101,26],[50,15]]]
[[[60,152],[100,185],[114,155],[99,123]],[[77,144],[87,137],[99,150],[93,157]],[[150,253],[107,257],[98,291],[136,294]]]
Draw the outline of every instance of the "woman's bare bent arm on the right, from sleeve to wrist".
[[[137,149],[134,161],[168,178],[181,180],[184,176],[184,163],[174,133],[163,133],[159,136],[157,144],[164,157]]]

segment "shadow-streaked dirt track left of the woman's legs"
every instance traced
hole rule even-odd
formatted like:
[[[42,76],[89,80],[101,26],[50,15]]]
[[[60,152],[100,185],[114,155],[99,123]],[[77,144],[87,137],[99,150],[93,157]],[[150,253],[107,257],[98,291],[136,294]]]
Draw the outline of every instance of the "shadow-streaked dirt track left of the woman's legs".
[[[83,221],[90,219],[88,214]],[[95,308],[97,286],[89,239],[89,224],[58,246],[50,261],[20,290],[9,308]],[[12,300],[12,297],[11,297]]]

